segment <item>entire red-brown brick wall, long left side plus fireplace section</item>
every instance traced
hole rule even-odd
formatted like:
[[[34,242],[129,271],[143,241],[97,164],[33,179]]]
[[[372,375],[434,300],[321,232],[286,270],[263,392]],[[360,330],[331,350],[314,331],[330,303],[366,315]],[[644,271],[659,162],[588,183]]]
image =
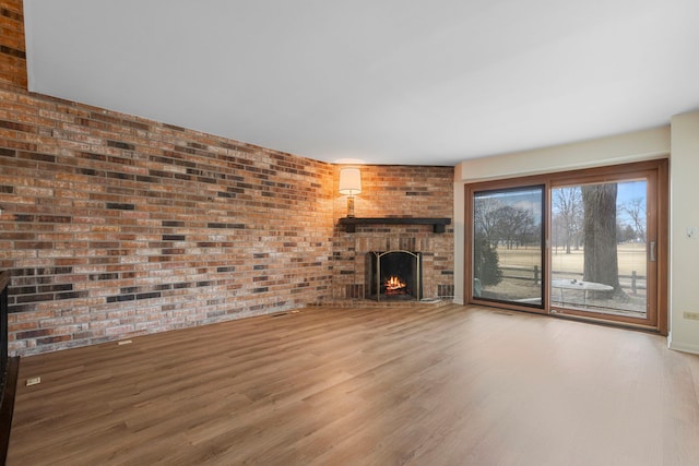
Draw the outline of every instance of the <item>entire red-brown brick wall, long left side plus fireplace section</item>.
[[[28,93],[22,31],[21,2],[0,0],[12,354],[345,298],[357,248],[386,241],[380,228],[336,226],[336,166]],[[359,216],[452,216],[452,168],[367,166],[363,177]],[[434,251],[426,296],[452,286],[452,229],[430,231],[390,231]]]

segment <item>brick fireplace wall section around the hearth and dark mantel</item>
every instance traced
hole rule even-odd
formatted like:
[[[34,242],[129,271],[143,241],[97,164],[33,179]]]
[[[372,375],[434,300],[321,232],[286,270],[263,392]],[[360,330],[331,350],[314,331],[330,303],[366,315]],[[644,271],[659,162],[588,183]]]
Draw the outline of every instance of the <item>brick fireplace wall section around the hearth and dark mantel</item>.
[[[362,166],[357,217],[453,218],[453,167]],[[335,167],[335,182],[340,167]],[[336,190],[335,190],[336,191]],[[347,213],[346,196],[335,200],[334,299],[364,299],[366,254],[371,251],[420,252],[423,296],[453,296],[453,225],[435,234],[430,225],[365,225],[348,234],[337,219]]]

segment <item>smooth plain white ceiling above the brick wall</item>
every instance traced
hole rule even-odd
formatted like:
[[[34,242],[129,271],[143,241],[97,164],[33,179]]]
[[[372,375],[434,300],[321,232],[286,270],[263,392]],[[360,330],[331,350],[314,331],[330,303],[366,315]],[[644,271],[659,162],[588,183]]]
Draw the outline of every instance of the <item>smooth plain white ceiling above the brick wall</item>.
[[[25,0],[29,89],[320,160],[466,158],[699,109],[697,0]]]

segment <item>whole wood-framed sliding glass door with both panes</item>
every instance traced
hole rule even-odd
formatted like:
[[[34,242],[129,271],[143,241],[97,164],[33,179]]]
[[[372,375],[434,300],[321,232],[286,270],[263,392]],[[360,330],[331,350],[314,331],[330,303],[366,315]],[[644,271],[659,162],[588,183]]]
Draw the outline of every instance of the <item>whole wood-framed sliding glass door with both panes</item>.
[[[466,300],[666,332],[666,192],[665,160],[469,186]]]

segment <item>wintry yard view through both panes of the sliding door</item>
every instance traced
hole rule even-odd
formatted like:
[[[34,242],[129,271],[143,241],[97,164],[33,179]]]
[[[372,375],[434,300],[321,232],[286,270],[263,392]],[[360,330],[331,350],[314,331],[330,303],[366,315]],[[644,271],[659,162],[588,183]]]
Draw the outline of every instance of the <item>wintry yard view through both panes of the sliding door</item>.
[[[541,307],[543,189],[474,195],[475,297]],[[647,182],[552,190],[552,306],[645,319]]]

